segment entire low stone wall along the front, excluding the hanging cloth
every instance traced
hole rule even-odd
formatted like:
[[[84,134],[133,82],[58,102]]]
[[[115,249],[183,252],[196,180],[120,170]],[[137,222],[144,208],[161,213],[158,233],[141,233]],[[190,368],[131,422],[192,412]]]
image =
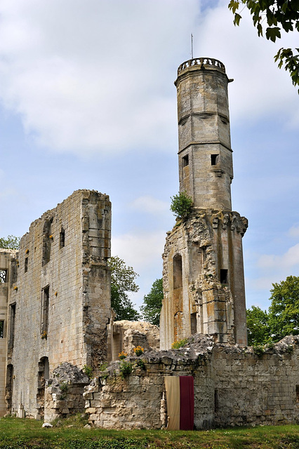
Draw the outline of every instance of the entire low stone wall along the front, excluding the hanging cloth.
[[[178,350],[140,356],[121,378],[121,362],[86,387],[86,413],[96,427],[159,429],[166,425],[165,375],[194,377],[194,427],[287,424],[299,421],[299,337],[285,337],[274,348],[215,344],[195,335]]]

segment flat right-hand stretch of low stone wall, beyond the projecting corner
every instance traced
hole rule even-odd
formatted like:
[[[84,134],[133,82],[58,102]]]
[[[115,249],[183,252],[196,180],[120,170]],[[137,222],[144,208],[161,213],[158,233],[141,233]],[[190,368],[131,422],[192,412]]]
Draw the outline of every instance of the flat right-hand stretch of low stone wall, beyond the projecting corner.
[[[298,422],[299,337],[258,354],[218,345],[213,356],[216,425]]]

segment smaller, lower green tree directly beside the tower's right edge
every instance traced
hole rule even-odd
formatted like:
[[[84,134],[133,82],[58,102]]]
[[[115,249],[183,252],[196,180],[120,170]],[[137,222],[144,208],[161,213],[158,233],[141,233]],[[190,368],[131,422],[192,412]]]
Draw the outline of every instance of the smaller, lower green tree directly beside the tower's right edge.
[[[267,343],[271,335],[267,311],[252,306],[246,310],[246,319],[248,346]]]

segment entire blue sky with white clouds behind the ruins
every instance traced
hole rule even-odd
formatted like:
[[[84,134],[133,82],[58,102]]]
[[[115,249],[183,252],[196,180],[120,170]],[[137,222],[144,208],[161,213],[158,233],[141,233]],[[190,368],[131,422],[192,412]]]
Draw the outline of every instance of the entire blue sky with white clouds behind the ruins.
[[[232,209],[244,236],[247,307],[270,305],[272,283],[299,275],[299,97],[277,50],[246,8],[228,0],[0,1],[0,236],[77,189],[112,201],[112,255],[139,274],[142,304],[161,278],[178,193],[178,66],[223,62],[234,151]]]

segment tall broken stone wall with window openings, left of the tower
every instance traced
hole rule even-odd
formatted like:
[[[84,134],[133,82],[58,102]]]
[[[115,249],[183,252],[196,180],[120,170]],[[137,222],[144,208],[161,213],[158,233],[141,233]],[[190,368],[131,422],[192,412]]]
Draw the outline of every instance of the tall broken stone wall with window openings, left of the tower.
[[[111,204],[79,190],[22,237],[9,303],[11,411],[44,413],[45,380],[59,363],[98,366],[107,356]]]

